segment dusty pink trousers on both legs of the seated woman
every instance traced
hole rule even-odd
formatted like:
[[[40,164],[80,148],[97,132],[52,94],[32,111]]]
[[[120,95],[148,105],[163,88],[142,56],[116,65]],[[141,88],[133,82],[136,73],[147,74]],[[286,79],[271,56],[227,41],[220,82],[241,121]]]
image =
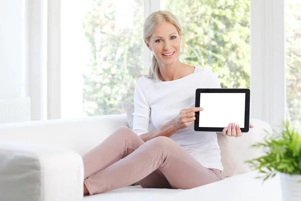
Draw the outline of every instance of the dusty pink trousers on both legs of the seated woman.
[[[143,188],[189,189],[224,179],[206,168],[169,137],[144,142],[122,126],[83,156],[84,183],[90,194],[138,182]]]

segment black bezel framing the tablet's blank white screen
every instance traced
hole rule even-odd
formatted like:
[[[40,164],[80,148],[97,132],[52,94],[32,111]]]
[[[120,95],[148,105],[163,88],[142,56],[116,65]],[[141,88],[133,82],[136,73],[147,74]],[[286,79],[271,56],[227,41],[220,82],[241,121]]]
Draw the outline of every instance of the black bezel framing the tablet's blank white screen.
[[[245,122],[244,128],[241,128],[242,132],[248,132],[250,127],[250,89],[248,88],[197,88],[196,89],[196,107],[200,107],[200,95],[201,93],[245,93]],[[221,100],[222,101],[222,100]],[[206,108],[204,108],[206,109]],[[202,111],[201,111],[202,112]],[[200,112],[196,113],[196,119],[194,122],[194,129],[196,131],[214,131],[221,132],[224,127],[199,127],[199,115]]]

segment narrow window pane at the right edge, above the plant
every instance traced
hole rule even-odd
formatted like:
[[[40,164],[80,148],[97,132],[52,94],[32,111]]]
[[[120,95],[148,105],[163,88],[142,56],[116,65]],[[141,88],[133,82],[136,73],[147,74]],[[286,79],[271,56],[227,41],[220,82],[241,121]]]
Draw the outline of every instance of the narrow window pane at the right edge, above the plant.
[[[301,1],[286,0],[286,106],[287,120],[301,132]]]

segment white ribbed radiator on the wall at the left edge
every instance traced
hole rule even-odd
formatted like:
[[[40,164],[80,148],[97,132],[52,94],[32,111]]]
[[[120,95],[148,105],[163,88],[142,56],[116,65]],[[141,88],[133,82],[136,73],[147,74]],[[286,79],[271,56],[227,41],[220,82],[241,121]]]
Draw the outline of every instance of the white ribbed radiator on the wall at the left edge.
[[[31,120],[31,99],[0,99],[0,123],[14,123]]]

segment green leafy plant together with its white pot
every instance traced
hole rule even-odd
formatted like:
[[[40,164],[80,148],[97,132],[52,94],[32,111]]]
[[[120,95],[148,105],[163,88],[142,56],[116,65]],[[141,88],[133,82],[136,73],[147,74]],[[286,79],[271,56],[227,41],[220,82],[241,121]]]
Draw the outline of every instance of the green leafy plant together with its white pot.
[[[258,170],[263,181],[280,174],[282,200],[301,200],[301,137],[288,122],[283,121],[281,133],[268,134],[263,141],[253,144],[264,155],[245,161]]]

